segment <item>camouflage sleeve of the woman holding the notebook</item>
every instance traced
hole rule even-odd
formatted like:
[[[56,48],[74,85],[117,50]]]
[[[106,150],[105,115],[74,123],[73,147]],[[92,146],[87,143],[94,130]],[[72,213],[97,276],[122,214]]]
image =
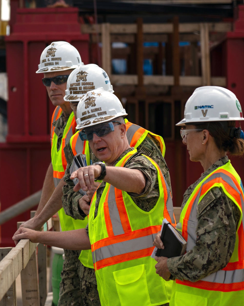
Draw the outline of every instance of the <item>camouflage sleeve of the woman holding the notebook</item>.
[[[167,259],[175,278],[191,282],[227,265],[235,248],[240,211],[222,188],[214,187],[199,203],[197,217],[196,246],[183,256]]]

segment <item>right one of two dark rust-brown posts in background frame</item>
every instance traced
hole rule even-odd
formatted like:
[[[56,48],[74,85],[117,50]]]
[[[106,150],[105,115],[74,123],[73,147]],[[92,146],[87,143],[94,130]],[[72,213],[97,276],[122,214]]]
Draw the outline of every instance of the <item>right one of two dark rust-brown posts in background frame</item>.
[[[180,85],[179,17],[173,18],[173,75],[174,86]]]

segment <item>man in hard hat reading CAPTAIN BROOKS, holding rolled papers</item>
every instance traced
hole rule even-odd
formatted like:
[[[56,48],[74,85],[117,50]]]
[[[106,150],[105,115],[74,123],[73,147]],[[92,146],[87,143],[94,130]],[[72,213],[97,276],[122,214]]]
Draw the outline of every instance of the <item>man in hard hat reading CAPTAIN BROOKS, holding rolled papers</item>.
[[[106,91],[113,92],[113,87],[110,83],[109,77],[107,76],[106,72],[97,65],[81,65],[70,74],[67,81],[66,95],[64,99],[66,101],[70,101],[70,105],[74,111],[75,118],[78,102],[89,89],[93,90],[95,88],[103,88]],[[128,121],[126,121],[126,129],[129,144],[135,148],[138,148],[138,151],[144,152],[146,155],[156,161],[156,163],[160,166],[160,170],[164,174],[167,184],[171,187],[168,167],[163,158],[165,146],[162,137]],[[64,177],[67,185],[63,188],[63,192],[65,193],[63,197],[63,207],[67,216],[63,215],[63,217],[61,216],[60,219],[65,218],[67,220],[66,224],[68,224],[68,226],[65,230],[81,228],[84,227],[82,226],[83,223],[85,225],[87,224],[86,215],[88,214],[89,202],[94,192],[88,191],[85,197],[82,197],[80,192],[74,193],[74,183],[72,180],[70,180],[69,171],[71,163],[74,159],[74,155],[83,151],[86,153],[88,165],[99,161],[99,159],[97,159],[96,156],[92,153],[88,142],[86,142],[85,145],[85,142],[81,140],[77,132],[71,137],[70,142],[68,142],[64,148],[65,158],[67,160],[68,166]],[[82,208],[80,209],[79,206]],[[46,219],[48,219],[52,214],[55,214],[56,211],[61,207],[62,206],[59,201],[49,201],[48,205],[45,207],[45,210],[42,212],[43,214],[39,214],[38,218],[35,220],[36,228],[38,228],[38,226],[40,227]],[[68,219],[70,218],[69,216],[78,220],[72,219],[72,222],[68,222]],[[81,221],[81,218],[84,220]],[[32,229],[35,228],[32,227]],[[62,230],[64,230],[63,227]],[[97,288],[95,274],[93,272],[94,269],[90,269],[93,268],[92,259],[90,258],[89,260],[88,256],[83,256],[81,258],[81,262],[84,264],[84,266],[81,265],[81,270],[79,271],[80,277],[82,279],[82,297],[85,304],[87,300],[92,300],[93,304],[96,305],[98,294],[95,294],[95,292],[97,292]]]

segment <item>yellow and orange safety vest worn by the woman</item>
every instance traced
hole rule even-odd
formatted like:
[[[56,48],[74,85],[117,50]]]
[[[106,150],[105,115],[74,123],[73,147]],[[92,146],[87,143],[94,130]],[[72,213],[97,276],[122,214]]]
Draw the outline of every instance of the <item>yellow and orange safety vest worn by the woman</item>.
[[[213,187],[221,187],[241,212],[234,252],[225,268],[197,282],[176,279],[170,306],[186,306],[189,301],[190,305],[198,306],[240,306],[244,303],[243,186],[230,161],[206,176],[193,190],[180,216],[182,236],[187,240],[187,251],[196,245],[197,205]]]

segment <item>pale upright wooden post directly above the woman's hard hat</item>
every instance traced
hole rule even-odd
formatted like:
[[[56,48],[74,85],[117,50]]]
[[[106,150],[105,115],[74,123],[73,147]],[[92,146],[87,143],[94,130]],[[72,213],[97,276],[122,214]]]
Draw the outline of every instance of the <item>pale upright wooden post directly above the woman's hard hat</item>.
[[[209,31],[207,23],[200,23],[202,85],[211,85]]]

